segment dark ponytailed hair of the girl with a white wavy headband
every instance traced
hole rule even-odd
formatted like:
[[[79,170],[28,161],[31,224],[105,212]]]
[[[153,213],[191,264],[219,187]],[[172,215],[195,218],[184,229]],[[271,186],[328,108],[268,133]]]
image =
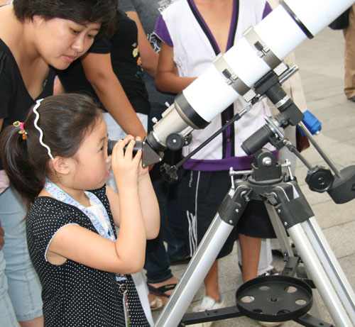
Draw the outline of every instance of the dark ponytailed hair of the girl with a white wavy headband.
[[[33,107],[32,107],[33,108]],[[92,98],[82,94],[62,94],[45,98],[37,109],[43,143],[53,157],[73,157],[87,133],[92,131],[102,113]],[[21,195],[27,208],[38,196],[50,173],[48,150],[40,145],[31,109],[23,123],[27,135],[22,139],[19,127],[7,126],[0,138],[0,155],[11,185]]]

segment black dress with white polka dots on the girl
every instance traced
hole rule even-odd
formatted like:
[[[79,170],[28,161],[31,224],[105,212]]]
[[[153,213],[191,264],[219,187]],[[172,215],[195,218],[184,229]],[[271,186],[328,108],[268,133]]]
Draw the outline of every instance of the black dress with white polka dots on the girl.
[[[106,186],[92,191],[104,204],[114,226]],[[42,284],[45,326],[126,326],[122,295],[115,275],[67,260],[52,265],[45,258],[50,240],[63,226],[77,224],[97,233],[80,209],[56,199],[35,199],[26,219],[28,250]],[[130,275],[130,326],[149,326]]]

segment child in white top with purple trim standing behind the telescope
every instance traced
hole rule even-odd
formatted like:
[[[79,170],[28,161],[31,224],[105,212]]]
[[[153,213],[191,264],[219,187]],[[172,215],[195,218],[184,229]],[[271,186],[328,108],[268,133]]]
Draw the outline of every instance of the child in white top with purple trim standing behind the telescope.
[[[220,52],[229,50],[250,26],[256,26],[271,12],[265,0],[177,0],[158,18],[155,34],[162,40],[155,83],[163,92],[181,92],[212,65]],[[176,72],[178,69],[178,72]],[[192,131],[192,141],[182,148],[186,156],[204,140],[227,123],[246,106],[237,99],[202,130]],[[181,203],[189,232],[191,255],[202,240],[222,199],[231,187],[229,167],[234,170],[251,168],[252,157],[241,150],[241,143],[263,126],[264,116],[270,114],[266,101],[253,106],[240,120],[214,138],[207,147],[185,162],[182,177]],[[266,146],[266,148],[268,145]],[[270,148],[271,150],[275,150]],[[262,201],[251,201],[244,211],[238,228],[243,262],[244,282],[257,276],[261,238],[275,237]],[[235,236],[219,253],[228,255]],[[204,279],[206,296],[194,311],[219,309],[224,300],[219,293],[218,264],[212,265]],[[199,326],[211,326],[212,322]]]

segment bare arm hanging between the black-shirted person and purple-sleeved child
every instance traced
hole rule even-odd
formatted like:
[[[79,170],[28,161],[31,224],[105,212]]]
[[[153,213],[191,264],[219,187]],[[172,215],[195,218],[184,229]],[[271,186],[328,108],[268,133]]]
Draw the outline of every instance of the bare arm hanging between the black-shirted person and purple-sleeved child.
[[[141,54],[143,70],[155,77],[156,68],[158,66],[158,53],[151,47],[151,43],[149,43],[138,13],[136,13],[136,11],[126,11],[126,14],[135,21],[138,28],[138,50]]]

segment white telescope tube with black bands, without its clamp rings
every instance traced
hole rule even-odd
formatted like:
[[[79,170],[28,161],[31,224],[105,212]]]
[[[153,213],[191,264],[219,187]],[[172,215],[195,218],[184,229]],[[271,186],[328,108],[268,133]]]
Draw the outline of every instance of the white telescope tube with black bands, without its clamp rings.
[[[283,60],[307,37],[312,38],[319,33],[353,3],[354,0],[280,1],[280,5],[258,23],[253,32],[276,59]],[[229,72],[244,84],[243,92],[231,87],[217,65],[211,65],[178,94],[174,104],[153,127],[148,143],[155,150],[165,150],[166,138],[171,133],[185,136],[193,129],[206,127],[215,116],[239,96],[244,96],[253,84],[275,68],[259,56],[245,35],[224,53],[222,59]]]

